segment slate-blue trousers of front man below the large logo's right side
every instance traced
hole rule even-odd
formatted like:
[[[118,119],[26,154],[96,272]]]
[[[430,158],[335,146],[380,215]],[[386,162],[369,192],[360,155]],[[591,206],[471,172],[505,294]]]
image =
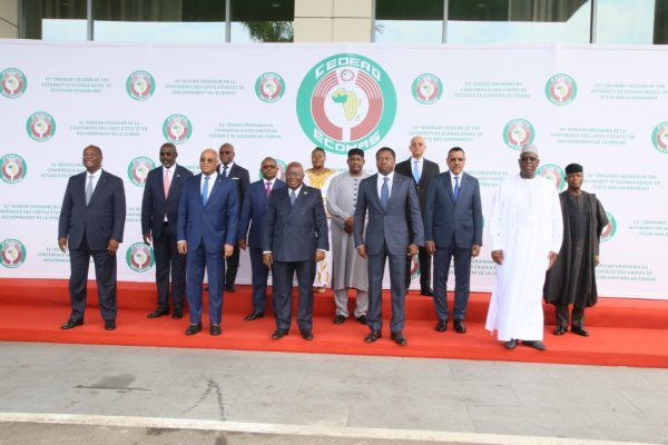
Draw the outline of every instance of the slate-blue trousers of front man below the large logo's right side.
[[[399,333],[403,330],[405,323],[405,283],[402,277],[406,268],[406,255],[392,255],[387,246],[383,245],[380,255],[369,255],[366,263],[369,269],[369,312],[366,324],[371,330],[381,330],[383,327],[383,315],[381,306],[383,303],[383,273],[385,260],[390,259],[390,294],[392,296],[392,318],[390,330]]]

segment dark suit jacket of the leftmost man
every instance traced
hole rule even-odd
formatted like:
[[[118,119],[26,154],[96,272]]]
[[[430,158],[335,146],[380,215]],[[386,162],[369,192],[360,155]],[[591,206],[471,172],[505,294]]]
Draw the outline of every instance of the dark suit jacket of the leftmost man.
[[[84,171],[67,182],[58,219],[58,238],[69,238],[69,248],[78,249],[86,234],[91,250],[106,250],[109,239],[122,241],[126,217],[122,180],[102,170],[86,206],[87,176]]]

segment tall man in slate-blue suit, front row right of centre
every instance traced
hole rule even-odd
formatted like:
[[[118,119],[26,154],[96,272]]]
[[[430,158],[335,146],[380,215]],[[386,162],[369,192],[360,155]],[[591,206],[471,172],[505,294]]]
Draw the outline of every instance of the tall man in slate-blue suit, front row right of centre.
[[[383,273],[390,258],[390,288],[392,295],[392,319],[390,338],[405,346],[403,336],[405,322],[405,281],[403,271],[406,256],[418,253],[424,241],[422,217],[415,187],[411,178],[394,171],[394,150],[383,147],[376,151],[379,172],[360,182],[353,234],[357,254],[369,258],[369,313],[366,324],[371,333],[364,338],[373,343],[381,338]],[[369,224],[364,233],[364,220]]]

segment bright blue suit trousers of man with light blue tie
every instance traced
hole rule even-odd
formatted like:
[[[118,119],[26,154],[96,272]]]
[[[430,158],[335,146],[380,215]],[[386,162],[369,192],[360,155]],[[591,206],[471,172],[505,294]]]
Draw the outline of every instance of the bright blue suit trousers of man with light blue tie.
[[[219,251],[213,254],[200,244],[196,249],[188,247],[186,255],[186,288],[190,323],[202,322],[202,288],[204,270],[208,274],[209,288],[209,322],[219,324],[223,317],[223,283],[225,280],[225,258]]]

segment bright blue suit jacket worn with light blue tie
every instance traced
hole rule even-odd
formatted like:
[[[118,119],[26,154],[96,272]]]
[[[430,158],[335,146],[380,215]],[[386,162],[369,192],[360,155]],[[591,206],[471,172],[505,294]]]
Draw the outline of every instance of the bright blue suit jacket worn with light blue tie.
[[[202,174],[186,180],[178,206],[177,239],[188,243],[188,250],[204,244],[209,254],[219,254],[225,244],[235,245],[239,220],[238,192],[232,179],[218,175],[202,205]]]

